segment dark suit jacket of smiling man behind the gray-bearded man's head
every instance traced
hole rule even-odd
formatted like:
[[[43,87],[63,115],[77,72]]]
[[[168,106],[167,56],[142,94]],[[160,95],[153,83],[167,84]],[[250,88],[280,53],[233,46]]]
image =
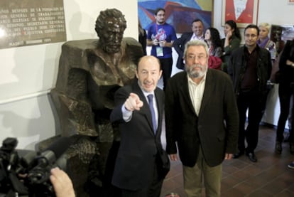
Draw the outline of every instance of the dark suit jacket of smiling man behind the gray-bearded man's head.
[[[180,36],[180,38],[173,42],[173,48],[175,48],[175,51],[177,51],[179,55],[177,60],[178,69],[184,70],[185,68],[185,64],[183,63],[185,44],[191,40],[192,36],[193,32],[183,33],[182,36]]]

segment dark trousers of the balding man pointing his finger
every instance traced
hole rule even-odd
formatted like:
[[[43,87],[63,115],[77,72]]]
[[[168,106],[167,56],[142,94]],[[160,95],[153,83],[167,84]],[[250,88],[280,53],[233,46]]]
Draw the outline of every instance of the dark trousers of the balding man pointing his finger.
[[[129,191],[122,189],[121,197],[160,197],[161,187],[163,185],[163,179],[158,177],[158,171],[156,164],[153,168],[153,180],[149,186],[139,191]]]

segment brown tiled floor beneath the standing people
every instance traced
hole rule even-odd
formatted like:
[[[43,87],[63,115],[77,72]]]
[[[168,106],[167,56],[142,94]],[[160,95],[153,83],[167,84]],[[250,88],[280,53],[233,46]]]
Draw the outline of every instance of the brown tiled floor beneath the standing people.
[[[222,196],[294,196],[294,170],[287,165],[294,161],[288,143],[283,143],[281,155],[274,153],[276,129],[260,126],[256,156],[252,163],[246,156],[224,161],[222,174]],[[173,192],[185,197],[183,191],[182,164],[171,162],[171,169],[165,178],[161,196]],[[205,188],[202,190],[205,196]]]

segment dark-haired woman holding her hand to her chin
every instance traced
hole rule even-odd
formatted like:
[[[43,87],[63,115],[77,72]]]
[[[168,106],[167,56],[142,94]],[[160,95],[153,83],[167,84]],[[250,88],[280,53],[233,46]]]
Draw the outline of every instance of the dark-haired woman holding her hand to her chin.
[[[222,70],[227,73],[227,63],[232,51],[239,48],[241,43],[241,34],[237,28],[235,21],[229,20],[224,23],[224,36],[222,38],[222,46],[224,46],[224,53],[222,54],[223,67]]]

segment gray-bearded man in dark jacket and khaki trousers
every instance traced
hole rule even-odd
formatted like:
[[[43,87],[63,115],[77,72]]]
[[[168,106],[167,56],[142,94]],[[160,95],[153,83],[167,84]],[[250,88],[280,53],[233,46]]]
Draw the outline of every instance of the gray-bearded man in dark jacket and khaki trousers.
[[[188,197],[221,196],[222,161],[237,149],[239,115],[232,80],[207,68],[208,49],[202,41],[185,45],[185,71],[170,78],[165,90],[166,151],[183,164]]]

